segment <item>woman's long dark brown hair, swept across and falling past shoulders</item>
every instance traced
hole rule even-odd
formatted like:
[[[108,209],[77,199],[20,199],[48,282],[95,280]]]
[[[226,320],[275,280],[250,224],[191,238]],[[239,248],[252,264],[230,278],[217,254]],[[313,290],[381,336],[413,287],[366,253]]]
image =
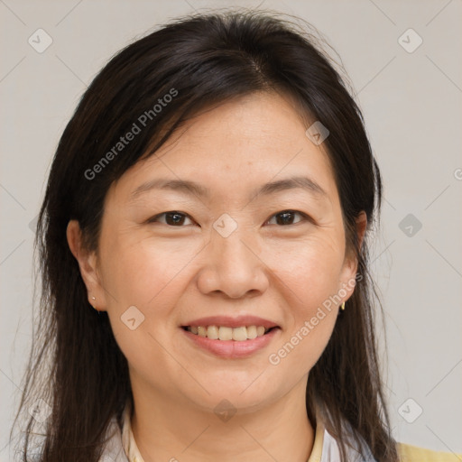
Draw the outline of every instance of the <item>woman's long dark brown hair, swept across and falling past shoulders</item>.
[[[310,24],[300,26],[297,18],[274,12],[189,15],[119,51],[92,81],[60,138],[38,217],[40,310],[14,423],[37,403],[39,414],[50,415],[37,430],[37,419],[26,413],[21,460],[30,460],[32,436],[42,433],[37,460],[96,462],[109,421],[120,419],[125,402],[133,400],[127,361],[107,314],[88,304],[66,238],[69,220],[79,220],[85,245],[96,250],[113,181],[199,110],[257,91],[290,95],[300,113],[328,127],[324,146],[337,183],[347,248],[356,254],[361,276],[310,371],[308,416],[315,422],[314,405],[321,406],[342,460],[352,441],[365,443],[377,461],[397,460],[374,337],[374,312],[382,309],[374,302],[378,298],[368,273],[367,243],[380,214],[381,176],[351,87],[314,31]],[[141,131],[115,153],[134,123]],[[107,154],[111,150],[112,156]],[[368,232],[361,247],[355,220],[362,210]]]

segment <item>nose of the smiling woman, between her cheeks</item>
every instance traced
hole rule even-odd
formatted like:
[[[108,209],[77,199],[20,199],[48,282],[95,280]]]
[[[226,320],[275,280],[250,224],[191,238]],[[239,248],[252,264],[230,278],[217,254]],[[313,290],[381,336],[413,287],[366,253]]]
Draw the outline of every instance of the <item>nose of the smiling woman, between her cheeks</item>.
[[[227,237],[213,232],[203,250],[199,291],[207,295],[222,293],[230,299],[261,295],[269,286],[270,270],[258,247],[255,239],[240,228]]]

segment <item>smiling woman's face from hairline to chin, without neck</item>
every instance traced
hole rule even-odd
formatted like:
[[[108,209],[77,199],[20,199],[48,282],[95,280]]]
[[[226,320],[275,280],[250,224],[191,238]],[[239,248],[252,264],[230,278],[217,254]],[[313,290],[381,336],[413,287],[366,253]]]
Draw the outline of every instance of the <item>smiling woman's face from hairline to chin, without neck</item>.
[[[241,98],[108,191],[96,271],[82,275],[134,391],[206,411],[304,394],[356,275],[328,156],[306,128],[279,95]]]

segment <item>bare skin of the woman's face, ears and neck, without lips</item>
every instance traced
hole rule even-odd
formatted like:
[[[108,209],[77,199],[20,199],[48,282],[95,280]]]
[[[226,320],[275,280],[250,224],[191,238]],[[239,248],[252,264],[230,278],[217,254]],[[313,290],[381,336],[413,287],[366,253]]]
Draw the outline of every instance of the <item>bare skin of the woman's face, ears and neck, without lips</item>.
[[[357,262],[347,252],[328,155],[307,128],[282,94],[226,102],[189,120],[111,186],[97,252],[82,247],[79,223],[69,222],[69,248],[88,300],[107,311],[129,364],[132,428],[145,462],[310,457],[308,374],[332,334],[338,306],[354,291]],[[253,196],[267,182],[300,176],[325,195],[292,188]],[[160,178],[194,181],[209,196],[148,189],[133,197],[140,185]],[[287,210],[294,213],[284,216]],[[171,211],[184,215],[164,214]],[[213,226],[223,214],[237,225],[227,237]],[[365,226],[363,212],[360,241]],[[338,306],[271,364],[269,356],[346,286]],[[144,316],[134,330],[121,320],[132,306]],[[245,314],[280,326],[267,347],[247,358],[215,356],[180,328],[206,316]],[[236,408],[227,421],[214,412],[224,399]]]

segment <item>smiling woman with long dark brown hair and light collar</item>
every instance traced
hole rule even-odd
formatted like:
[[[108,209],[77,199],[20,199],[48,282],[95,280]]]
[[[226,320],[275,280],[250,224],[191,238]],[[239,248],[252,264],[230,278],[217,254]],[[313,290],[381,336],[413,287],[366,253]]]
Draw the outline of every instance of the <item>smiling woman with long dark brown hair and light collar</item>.
[[[189,16],[94,79],[37,227],[22,460],[33,439],[47,462],[423,457],[393,440],[375,348],[380,172],[317,44]]]

